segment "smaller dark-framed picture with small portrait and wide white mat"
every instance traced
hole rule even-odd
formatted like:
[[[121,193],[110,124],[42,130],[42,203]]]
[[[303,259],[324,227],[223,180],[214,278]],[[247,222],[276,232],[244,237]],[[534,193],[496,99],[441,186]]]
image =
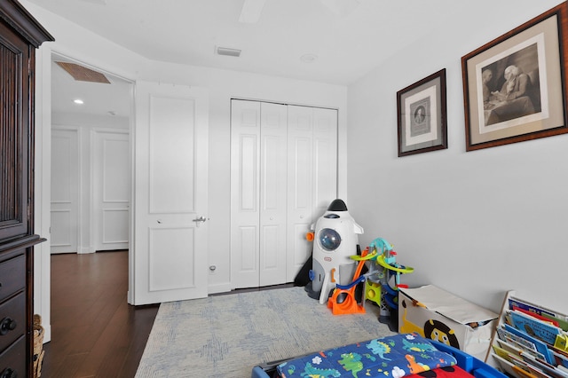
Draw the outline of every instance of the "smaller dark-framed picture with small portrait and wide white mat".
[[[397,92],[398,157],[447,148],[446,68]]]

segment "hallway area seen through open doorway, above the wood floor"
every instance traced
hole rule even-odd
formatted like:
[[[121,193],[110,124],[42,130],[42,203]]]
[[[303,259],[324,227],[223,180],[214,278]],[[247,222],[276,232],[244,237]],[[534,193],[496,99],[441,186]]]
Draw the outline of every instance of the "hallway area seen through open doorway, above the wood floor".
[[[51,253],[129,248],[132,87],[51,53]]]

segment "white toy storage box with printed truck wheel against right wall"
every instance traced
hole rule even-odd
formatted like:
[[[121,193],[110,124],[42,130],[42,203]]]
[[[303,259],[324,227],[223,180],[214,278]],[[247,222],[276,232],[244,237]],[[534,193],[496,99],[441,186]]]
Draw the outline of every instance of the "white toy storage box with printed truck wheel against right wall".
[[[485,360],[499,315],[432,285],[398,291],[398,332],[415,332]]]

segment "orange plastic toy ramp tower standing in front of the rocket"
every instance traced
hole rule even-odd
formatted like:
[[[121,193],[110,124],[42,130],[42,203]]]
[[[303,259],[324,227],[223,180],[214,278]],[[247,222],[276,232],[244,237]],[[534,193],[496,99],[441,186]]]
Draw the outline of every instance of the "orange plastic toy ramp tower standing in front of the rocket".
[[[334,315],[344,315],[344,314],[357,314],[365,313],[365,294],[361,299],[361,303],[357,302],[355,298],[355,289],[359,283],[367,280],[367,275],[361,275],[361,271],[365,262],[376,257],[376,253],[369,254],[368,248],[365,249],[361,256],[350,256],[353,260],[359,260],[355,274],[353,275],[353,281],[349,285],[335,285],[335,289],[331,297],[327,300],[327,308],[331,309]],[[363,293],[365,293],[365,288]]]

